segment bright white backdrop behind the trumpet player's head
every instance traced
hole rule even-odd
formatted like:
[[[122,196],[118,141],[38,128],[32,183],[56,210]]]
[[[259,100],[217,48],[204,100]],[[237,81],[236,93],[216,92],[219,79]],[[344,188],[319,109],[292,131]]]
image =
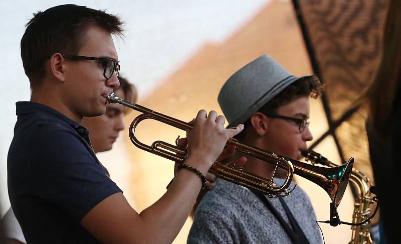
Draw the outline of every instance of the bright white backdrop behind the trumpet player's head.
[[[184,64],[206,43],[219,43],[231,36],[267,0],[136,0],[110,2],[69,1],[68,3],[106,9],[125,20],[126,37],[116,40],[121,74],[129,77],[139,91],[139,100],[165,77]],[[3,86],[3,113],[0,117],[0,212],[10,206],[7,194],[7,153],[16,122],[15,102],[30,99],[29,81],[20,58],[25,24],[32,13],[66,4],[62,1],[1,1],[0,67]]]

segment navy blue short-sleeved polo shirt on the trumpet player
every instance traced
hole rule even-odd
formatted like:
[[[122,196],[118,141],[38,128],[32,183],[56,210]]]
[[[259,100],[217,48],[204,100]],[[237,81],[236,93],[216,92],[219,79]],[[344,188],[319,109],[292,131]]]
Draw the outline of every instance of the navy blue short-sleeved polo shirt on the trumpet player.
[[[17,102],[7,169],[9,196],[28,243],[96,243],[81,219],[122,192],[90,146],[89,131],[35,102]]]

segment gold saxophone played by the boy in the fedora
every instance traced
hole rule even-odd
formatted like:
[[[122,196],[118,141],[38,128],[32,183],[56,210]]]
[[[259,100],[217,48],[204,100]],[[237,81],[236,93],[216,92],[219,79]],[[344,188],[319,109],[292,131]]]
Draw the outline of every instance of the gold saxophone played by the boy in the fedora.
[[[330,162],[327,158],[323,157],[312,150],[302,152],[305,161],[310,161],[312,164],[322,164],[329,167],[337,167],[338,165]],[[357,192],[355,197],[354,211],[352,214],[352,223],[359,223],[364,221],[370,215],[370,204],[373,203],[369,188],[370,180],[362,172],[352,169],[349,181],[354,184]],[[371,244],[372,238],[369,232],[369,221],[362,224],[351,226],[352,236],[349,244]]]

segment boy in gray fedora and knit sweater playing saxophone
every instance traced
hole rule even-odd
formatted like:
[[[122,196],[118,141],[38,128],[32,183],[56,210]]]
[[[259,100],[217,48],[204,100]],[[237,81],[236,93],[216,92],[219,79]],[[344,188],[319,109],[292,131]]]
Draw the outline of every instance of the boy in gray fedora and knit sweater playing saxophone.
[[[309,96],[323,90],[318,78],[295,77],[268,55],[232,75],[219,93],[228,127],[244,124],[235,138],[290,159],[300,159],[309,131]],[[238,155],[237,155],[238,156]],[[272,178],[274,166],[247,157],[247,172]],[[282,185],[287,172],[276,169]],[[292,189],[294,187],[292,183]],[[321,243],[315,212],[296,187],[286,198],[269,199],[242,186],[218,180],[195,212],[188,243]]]

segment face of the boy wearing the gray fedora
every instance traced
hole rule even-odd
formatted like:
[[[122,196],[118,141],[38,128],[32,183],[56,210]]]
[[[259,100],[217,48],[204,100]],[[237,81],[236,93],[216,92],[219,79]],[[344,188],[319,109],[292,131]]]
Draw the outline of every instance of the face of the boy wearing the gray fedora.
[[[286,105],[277,109],[277,114],[294,117],[309,118],[309,97],[303,96],[294,99]],[[290,159],[300,159],[301,151],[306,150],[306,142],[313,139],[306,126],[303,132],[299,131],[299,125],[291,120],[280,118],[267,118],[268,129],[263,138],[265,149]]]

